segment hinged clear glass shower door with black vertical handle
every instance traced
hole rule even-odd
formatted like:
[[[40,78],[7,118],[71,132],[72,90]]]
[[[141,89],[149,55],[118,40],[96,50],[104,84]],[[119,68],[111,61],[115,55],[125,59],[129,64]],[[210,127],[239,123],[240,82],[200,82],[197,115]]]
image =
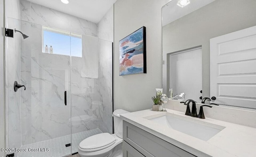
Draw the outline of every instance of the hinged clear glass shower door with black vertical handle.
[[[68,55],[49,54],[44,52],[42,25],[13,18],[8,18],[7,23],[6,28],[29,37],[24,39],[20,32],[14,32],[14,38],[7,38],[6,42],[6,146],[28,149],[13,151],[19,157],[68,156],[71,154],[70,33],[65,34],[69,44],[58,42]],[[21,87],[15,92],[14,81],[26,90]]]

